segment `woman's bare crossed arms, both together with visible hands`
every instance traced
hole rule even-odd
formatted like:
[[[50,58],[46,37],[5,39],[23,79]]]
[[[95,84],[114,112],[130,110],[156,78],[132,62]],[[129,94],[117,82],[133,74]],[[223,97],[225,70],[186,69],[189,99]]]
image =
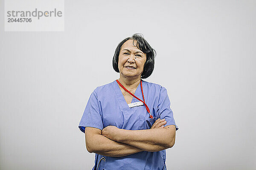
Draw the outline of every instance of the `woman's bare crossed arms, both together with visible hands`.
[[[166,122],[157,120],[151,129],[124,130],[107,126],[103,130],[86,127],[85,142],[90,153],[103,156],[127,156],[141,151],[156,152],[175,143],[175,125],[163,127]]]

